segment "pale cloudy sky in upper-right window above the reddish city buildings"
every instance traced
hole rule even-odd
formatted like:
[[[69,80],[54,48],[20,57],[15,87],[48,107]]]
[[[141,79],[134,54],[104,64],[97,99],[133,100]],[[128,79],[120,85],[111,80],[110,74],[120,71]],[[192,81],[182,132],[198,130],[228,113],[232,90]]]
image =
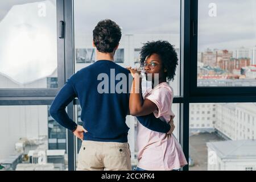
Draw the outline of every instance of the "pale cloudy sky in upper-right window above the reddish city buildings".
[[[217,16],[209,16],[215,3]],[[255,0],[199,0],[198,49],[237,49],[256,46]]]

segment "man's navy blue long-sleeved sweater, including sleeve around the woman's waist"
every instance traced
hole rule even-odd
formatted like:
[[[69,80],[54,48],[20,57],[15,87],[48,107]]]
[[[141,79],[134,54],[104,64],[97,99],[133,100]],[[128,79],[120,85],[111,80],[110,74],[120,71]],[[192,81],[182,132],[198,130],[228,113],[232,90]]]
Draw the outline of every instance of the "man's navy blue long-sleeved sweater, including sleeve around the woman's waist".
[[[100,73],[105,74],[98,78]],[[124,87],[119,85],[121,89],[127,89],[125,93],[117,93],[116,90],[111,89],[111,86],[113,88],[114,85],[115,88],[115,86],[118,86],[118,82],[123,79],[115,78],[118,73],[124,73],[127,77],[127,85],[122,85]],[[81,121],[83,127],[88,131],[88,133],[84,133],[84,140],[127,142],[129,127],[127,127],[125,121],[129,111],[131,86],[129,84],[129,73],[127,69],[113,61],[96,61],[96,63],[81,69],[68,79],[52,102],[49,113],[61,126],[74,130],[77,124],[68,117],[65,107],[77,97],[82,109]],[[102,86],[103,83],[106,84]],[[109,90],[109,92],[99,93],[99,84],[100,88]],[[170,125],[155,118],[153,114],[137,118],[143,126],[150,130],[160,133],[167,133],[170,130]]]

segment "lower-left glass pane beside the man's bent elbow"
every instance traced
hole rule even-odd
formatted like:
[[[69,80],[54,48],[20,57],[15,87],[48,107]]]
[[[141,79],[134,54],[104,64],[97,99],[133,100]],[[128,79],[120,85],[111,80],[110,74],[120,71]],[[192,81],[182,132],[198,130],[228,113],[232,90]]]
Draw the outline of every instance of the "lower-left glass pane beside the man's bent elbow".
[[[67,131],[49,106],[0,106],[0,115],[0,169],[67,170]]]

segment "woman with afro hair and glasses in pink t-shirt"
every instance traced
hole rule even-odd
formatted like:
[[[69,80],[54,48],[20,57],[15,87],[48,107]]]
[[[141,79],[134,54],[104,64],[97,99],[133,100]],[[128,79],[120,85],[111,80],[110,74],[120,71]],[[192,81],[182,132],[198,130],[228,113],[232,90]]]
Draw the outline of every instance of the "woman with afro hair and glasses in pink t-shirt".
[[[139,117],[154,113],[162,122],[169,122],[171,119],[173,122],[175,114],[171,107],[174,92],[167,81],[174,80],[178,65],[174,46],[167,41],[147,42],[142,47],[140,60],[146,79],[152,82],[152,87],[143,93],[142,98],[140,72],[127,68],[134,78],[129,101],[130,114]],[[171,126],[174,127],[173,123]],[[173,134],[149,130],[139,122],[137,145],[137,171],[172,171],[188,164],[180,143]]]

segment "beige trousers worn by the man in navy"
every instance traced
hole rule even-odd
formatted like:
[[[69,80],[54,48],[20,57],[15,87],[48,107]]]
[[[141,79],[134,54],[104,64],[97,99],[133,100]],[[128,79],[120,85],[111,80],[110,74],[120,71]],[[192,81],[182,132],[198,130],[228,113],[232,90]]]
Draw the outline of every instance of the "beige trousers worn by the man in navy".
[[[77,171],[131,171],[128,143],[82,141]]]

